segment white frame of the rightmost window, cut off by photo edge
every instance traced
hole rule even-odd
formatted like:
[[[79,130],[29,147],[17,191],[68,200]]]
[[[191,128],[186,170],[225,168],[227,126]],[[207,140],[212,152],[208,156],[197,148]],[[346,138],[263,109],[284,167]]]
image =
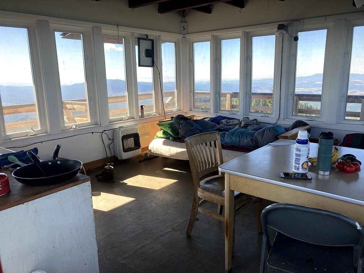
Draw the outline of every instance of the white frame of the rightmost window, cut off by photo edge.
[[[352,54],[353,28],[357,26],[364,26],[364,19],[347,21],[345,27],[343,66],[341,69],[341,82],[340,82],[340,94],[339,94],[339,111],[337,111],[338,124],[364,125],[363,120],[345,119],[346,101],[347,101],[349,76],[350,76],[349,73],[351,64],[351,54]]]

